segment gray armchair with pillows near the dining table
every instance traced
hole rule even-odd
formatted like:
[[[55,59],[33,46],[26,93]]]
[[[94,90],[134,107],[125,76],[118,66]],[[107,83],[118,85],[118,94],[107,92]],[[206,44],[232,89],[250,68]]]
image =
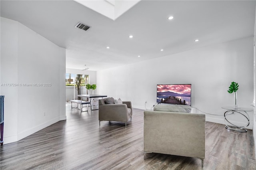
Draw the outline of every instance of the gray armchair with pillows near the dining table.
[[[100,121],[118,121],[124,122],[126,127],[128,120],[130,118],[132,120],[132,103],[123,101],[123,104],[114,104],[112,99],[99,100],[99,123]]]

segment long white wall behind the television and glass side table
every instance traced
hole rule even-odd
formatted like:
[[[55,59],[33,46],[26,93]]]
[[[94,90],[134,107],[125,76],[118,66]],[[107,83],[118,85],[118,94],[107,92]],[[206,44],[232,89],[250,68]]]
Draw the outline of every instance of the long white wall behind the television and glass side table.
[[[156,103],[157,84],[191,83],[192,107],[220,115],[206,115],[206,121],[222,124],[225,110],[221,107],[234,104],[234,94],[227,92],[232,81],[239,84],[238,107],[252,108],[252,37],[97,71],[99,94],[132,101],[139,109],[145,109],[145,101],[147,109]],[[252,129],[253,112],[249,115]],[[241,120],[234,116],[231,121],[246,122]]]

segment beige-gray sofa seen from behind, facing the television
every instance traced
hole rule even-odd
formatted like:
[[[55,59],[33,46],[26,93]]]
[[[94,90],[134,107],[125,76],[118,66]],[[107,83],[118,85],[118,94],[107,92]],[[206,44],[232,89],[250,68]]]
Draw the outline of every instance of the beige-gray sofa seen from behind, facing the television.
[[[144,158],[148,152],[195,157],[202,160],[203,167],[205,115],[161,107],[144,111]]]

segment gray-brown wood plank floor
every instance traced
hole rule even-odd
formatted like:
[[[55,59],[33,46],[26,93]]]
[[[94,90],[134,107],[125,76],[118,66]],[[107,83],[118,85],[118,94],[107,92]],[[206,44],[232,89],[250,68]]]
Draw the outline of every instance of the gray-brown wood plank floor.
[[[206,122],[206,158],[151,153],[144,160],[143,110],[132,121],[98,122],[98,111],[66,105],[66,121],[0,147],[1,170],[256,170],[252,130],[239,133]],[[157,139],[156,139],[157,142]],[[193,141],[191,141],[193,142]]]

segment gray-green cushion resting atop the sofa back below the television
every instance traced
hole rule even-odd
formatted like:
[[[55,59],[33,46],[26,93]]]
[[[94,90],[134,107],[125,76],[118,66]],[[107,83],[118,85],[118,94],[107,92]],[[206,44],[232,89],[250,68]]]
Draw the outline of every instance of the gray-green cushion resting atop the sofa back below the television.
[[[191,106],[189,105],[155,105],[153,110],[164,111],[164,112],[190,113]]]

